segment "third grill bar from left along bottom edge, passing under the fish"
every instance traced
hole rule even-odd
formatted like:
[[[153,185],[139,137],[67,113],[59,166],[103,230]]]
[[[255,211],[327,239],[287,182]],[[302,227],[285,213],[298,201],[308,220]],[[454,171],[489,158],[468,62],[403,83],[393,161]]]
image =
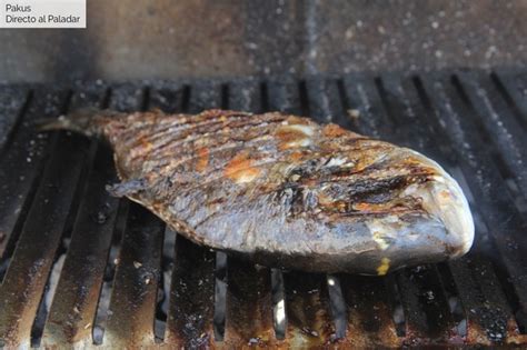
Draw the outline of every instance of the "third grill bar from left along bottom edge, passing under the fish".
[[[130,91],[133,91],[130,93]],[[111,106],[145,109],[148,90],[130,86],[112,90]],[[155,310],[165,224],[139,204],[131,204],[122,237],[105,338],[116,347],[155,343]]]

